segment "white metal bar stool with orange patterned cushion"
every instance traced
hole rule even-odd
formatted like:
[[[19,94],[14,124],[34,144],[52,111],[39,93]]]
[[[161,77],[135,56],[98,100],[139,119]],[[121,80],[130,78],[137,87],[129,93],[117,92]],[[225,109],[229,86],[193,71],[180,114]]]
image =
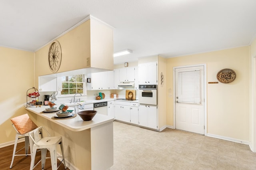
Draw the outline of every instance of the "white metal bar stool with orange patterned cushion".
[[[37,128],[36,124],[30,119],[28,114],[14,117],[11,119],[11,121],[12,121],[12,126],[14,127],[14,129],[16,130],[17,133],[16,133],[16,137],[15,137],[14,149],[13,149],[13,153],[12,153],[12,162],[11,162],[10,168],[12,168],[14,156],[30,155],[32,157],[33,142],[32,142],[32,140],[29,140],[29,132],[31,130],[34,130],[35,128]],[[23,147],[23,148],[25,148],[25,154],[16,154],[17,152],[19,152],[20,150],[23,149],[23,148],[21,148],[20,150],[18,150],[16,152],[18,140],[22,139],[22,138],[25,138],[25,146]],[[30,154],[28,154],[28,146],[30,146]]]

